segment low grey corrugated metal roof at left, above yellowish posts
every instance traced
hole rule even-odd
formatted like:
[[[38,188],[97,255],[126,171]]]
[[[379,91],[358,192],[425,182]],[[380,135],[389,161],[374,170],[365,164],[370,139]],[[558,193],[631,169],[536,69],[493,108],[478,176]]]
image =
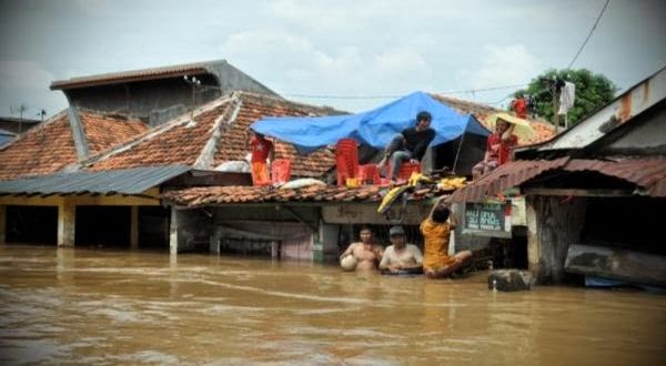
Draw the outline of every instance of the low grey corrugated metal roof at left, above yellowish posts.
[[[103,172],[72,172],[0,182],[0,194],[140,194],[192,170],[188,165],[133,167]]]

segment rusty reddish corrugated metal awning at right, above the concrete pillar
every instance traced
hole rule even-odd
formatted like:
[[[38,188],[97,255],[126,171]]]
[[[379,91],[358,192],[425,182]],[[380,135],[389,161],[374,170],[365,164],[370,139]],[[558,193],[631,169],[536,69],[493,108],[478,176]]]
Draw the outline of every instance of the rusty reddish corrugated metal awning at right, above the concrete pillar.
[[[598,172],[636,184],[650,196],[666,197],[666,157],[618,161],[561,157],[553,161],[516,161],[502,165],[453,194],[454,201],[478,202],[517,187],[546,171]]]

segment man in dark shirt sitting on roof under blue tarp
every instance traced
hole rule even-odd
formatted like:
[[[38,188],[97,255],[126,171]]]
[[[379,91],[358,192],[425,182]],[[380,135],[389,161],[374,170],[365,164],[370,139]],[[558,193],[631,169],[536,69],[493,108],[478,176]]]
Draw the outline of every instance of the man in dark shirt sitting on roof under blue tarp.
[[[418,112],[416,114],[416,126],[404,129],[386,146],[384,157],[377,164],[377,167],[383,170],[386,162],[391,161],[392,181],[397,180],[403,162],[418,163],[423,159],[427,145],[435,138],[435,130],[430,128],[433,116],[428,112]]]

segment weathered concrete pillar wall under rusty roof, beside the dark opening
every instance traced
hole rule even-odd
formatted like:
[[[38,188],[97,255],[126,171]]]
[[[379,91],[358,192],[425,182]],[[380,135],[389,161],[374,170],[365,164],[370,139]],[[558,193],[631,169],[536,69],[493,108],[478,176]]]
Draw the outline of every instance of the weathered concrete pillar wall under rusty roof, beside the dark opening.
[[[527,196],[527,262],[538,284],[562,282],[569,244],[581,241],[584,197]]]

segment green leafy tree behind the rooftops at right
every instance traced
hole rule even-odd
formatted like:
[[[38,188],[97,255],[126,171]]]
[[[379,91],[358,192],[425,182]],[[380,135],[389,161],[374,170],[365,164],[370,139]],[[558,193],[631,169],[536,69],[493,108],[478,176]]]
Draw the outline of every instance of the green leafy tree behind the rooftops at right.
[[[617,88],[603,74],[592,73],[586,69],[578,70],[548,70],[533,79],[527,89],[521,89],[514,96],[528,94],[534,98],[534,111],[543,119],[553,123],[553,93],[551,84],[554,80],[569,81],[576,84],[576,99],[574,106],[568,111],[568,125],[574,125],[583,118],[595,112],[604,104],[615,98]],[[559,125],[564,125],[564,119],[559,119]]]

